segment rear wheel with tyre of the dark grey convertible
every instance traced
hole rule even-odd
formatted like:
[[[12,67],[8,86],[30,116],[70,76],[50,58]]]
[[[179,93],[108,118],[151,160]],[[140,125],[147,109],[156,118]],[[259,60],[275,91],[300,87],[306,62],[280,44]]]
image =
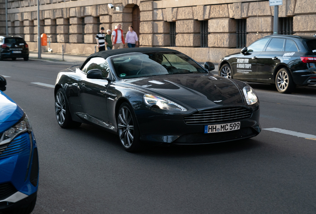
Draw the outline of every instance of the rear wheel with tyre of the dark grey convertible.
[[[55,95],[55,114],[57,122],[62,128],[79,127],[81,125],[80,122],[72,120],[66,95],[61,88],[58,89]]]

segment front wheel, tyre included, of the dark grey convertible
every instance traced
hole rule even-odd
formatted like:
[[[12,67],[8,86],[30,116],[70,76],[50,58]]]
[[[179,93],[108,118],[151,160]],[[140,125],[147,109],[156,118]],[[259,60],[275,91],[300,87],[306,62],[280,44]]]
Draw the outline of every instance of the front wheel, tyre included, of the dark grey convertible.
[[[135,113],[128,103],[123,103],[117,114],[117,129],[121,145],[128,152],[137,152],[142,148]]]

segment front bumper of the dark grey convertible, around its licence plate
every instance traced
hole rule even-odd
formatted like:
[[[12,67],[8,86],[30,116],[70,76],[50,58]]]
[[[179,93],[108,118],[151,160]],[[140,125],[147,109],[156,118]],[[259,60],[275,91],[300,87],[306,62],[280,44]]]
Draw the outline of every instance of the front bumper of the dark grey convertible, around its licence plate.
[[[212,123],[189,125],[184,122],[183,115],[173,115],[173,119],[164,119],[162,116],[142,117],[141,115],[137,115],[137,119],[141,132],[141,141],[155,145],[199,145],[254,137],[261,132],[259,116],[260,109],[258,108],[247,119],[230,121],[240,121],[239,130],[208,134],[204,133],[204,126],[212,125]]]

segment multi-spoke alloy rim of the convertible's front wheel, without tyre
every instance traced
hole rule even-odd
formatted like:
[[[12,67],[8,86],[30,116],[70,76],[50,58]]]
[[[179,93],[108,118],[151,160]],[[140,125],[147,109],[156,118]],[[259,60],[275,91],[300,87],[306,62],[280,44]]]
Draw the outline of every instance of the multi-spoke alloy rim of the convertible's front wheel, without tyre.
[[[126,106],[121,107],[118,114],[118,132],[122,145],[130,148],[134,140],[134,121],[131,111]]]

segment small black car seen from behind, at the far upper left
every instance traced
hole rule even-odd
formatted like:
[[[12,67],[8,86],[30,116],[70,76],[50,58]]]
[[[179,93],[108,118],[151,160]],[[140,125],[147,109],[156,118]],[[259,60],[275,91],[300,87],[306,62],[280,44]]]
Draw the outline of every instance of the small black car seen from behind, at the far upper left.
[[[0,36],[0,60],[4,58],[23,58],[28,60],[28,45],[22,37],[3,37]]]

